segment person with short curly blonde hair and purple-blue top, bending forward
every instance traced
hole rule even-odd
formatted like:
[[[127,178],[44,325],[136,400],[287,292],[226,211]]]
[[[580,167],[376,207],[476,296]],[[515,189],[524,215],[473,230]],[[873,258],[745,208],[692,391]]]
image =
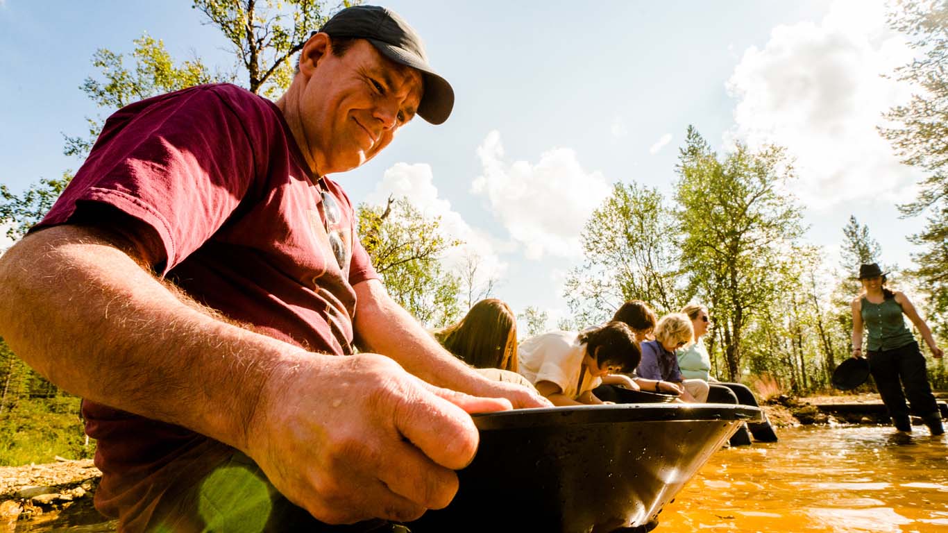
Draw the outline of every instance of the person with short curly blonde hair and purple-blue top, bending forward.
[[[688,343],[693,334],[694,329],[687,315],[672,313],[662,317],[655,325],[655,340],[639,344],[642,362],[639,363],[635,374],[646,379],[657,379],[654,392],[660,392],[662,382],[669,381],[681,386],[682,400],[704,402],[708,395],[707,382],[701,379],[685,379],[678,366],[678,358],[675,357],[675,350]]]

